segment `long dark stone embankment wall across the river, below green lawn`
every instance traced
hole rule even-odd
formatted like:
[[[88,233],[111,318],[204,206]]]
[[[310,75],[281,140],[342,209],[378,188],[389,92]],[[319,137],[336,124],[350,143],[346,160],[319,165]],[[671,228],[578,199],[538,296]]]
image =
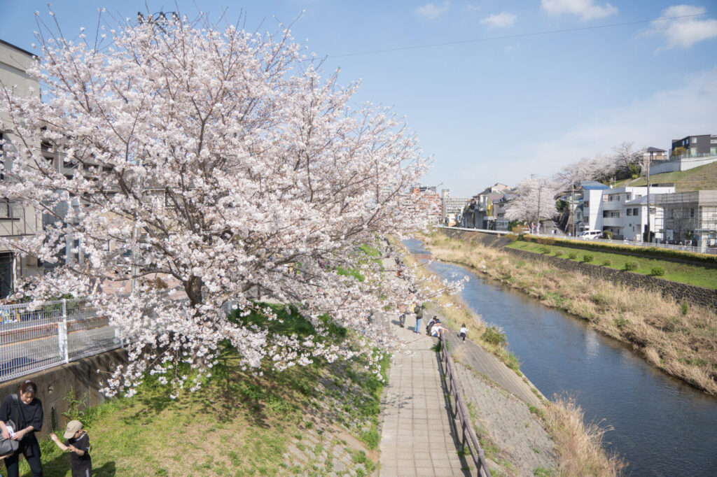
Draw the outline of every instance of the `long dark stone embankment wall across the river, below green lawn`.
[[[505,241],[510,242],[510,240],[505,237],[501,238],[502,241],[496,241],[495,236],[488,236],[480,232],[451,231],[450,236],[474,243],[479,241],[486,246],[496,246],[498,248],[504,247]],[[510,247],[504,247],[503,250],[513,256],[521,257],[521,259],[546,261],[559,269],[579,271],[582,274],[594,276],[599,279],[617,281],[628,286],[659,291],[663,296],[673,298],[678,302],[698,304],[717,310],[717,290],[660,279],[655,276],[634,274],[630,271],[611,269],[606,266],[559,259],[555,256],[546,256],[534,252],[511,249]]]

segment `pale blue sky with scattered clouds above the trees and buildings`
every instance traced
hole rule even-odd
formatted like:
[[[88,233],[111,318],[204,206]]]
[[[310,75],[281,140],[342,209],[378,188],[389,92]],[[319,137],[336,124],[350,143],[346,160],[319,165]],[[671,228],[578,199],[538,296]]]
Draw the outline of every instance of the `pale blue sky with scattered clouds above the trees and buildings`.
[[[342,83],[361,80],[357,104],[405,115],[434,159],[424,183],[471,196],[495,182],[551,175],[625,141],[668,149],[673,138],[717,134],[717,1],[682,1],[177,4],[188,16],[199,5],[212,18],[226,7],[230,20],[243,8],[251,30],[298,17],[294,37],[328,56],[326,76],[341,67]],[[46,3],[0,0],[0,39],[33,51],[34,11],[47,21]],[[92,30],[98,7],[135,18],[146,4],[176,9],[153,0],[60,0],[52,9],[74,35],[80,26]],[[708,14],[633,23],[700,13]],[[613,26],[594,28],[604,25]],[[462,43],[375,52],[450,42]],[[356,54],[363,52],[374,53]]]

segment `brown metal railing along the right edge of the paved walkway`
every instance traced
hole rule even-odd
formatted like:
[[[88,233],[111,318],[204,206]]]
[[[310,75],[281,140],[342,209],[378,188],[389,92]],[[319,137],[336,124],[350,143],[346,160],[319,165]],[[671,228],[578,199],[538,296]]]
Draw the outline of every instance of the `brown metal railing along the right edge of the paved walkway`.
[[[467,405],[465,405],[465,400],[463,399],[463,393],[461,392],[460,385],[458,384],[458,378],[455,375],[455,370],[453,368],[453,360],[451,360],[450,356],[448,355],[445,334],[441,334],[440,343],[441,363],[443,365],[443,370],[445,371],[446,385],[448,388],[449,395],[452,396],[451,402],[455,403],[455,405],[451,405],[449,403],[448,408],[450,409],[450,413],[453,418],[455,418],[458,423],[460,423],[460,428],[462,431],[461,444],[464,449],[467,445],[468,450],[470,450],[470,456],[471,458],[473,458],[473,463],[475,464],[475,475],[479,477],[490,477],[490,470],[488,470],[488,461],[486,461],[485,459],[485,453],[483,452],[483,449],[480,448],[478,437],[475,435],[473,425],[471,425],[470,423],[470,413],[468,413]],[[481,473],[481,471],[483,471],[483,473]]]

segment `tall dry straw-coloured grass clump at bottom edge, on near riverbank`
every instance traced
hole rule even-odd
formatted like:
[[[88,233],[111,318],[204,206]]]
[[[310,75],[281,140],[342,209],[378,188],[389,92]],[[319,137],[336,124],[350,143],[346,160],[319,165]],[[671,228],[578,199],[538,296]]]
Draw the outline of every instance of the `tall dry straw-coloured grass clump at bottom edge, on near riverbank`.
[[[556,398],[547,403],[545,421],[556,443],[558,473],[561,476],[620,476],[625,462],[602,448],[604,433],[595,423],[584,423],[584,414],[574,400]]]

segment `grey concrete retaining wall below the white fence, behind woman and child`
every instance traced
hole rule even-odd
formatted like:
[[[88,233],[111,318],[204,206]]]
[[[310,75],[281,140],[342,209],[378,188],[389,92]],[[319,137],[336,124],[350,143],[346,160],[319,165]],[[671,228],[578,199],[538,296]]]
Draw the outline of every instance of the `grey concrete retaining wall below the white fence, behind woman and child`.
[[[100,393],[101,382],[107,380],[108,373],[113,372],[115,367],[126,362],[127,357],[123,350],[113,350],[73,361],[67,365],[52,367],[49,370],[3,382],[0,384],[0,400],[13,392],[18,392],[25,380],[32,380],[37,384],[37,397],[42,401],[44,410],[42,432],[37,435],[42,437],[64,430],[69,421],[63,413],[67,413],[69,408],[67,395],[70,394],[70,389],[77,400],[82,400],[86,396],[85,404],[88,407],[103,403],[105,396]]]

